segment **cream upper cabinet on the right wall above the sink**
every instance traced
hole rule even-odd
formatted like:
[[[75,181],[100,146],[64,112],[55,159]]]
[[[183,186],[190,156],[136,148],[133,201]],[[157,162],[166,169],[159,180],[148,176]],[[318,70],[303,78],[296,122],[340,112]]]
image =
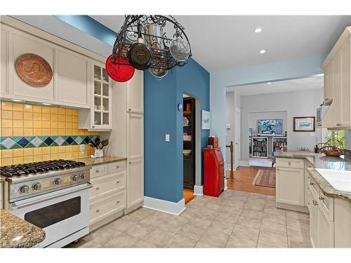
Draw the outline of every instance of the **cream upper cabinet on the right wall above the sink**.
[[[351,27],[347,27],[322,65],[324,101],[331,102],[324,128],[351,129]]]

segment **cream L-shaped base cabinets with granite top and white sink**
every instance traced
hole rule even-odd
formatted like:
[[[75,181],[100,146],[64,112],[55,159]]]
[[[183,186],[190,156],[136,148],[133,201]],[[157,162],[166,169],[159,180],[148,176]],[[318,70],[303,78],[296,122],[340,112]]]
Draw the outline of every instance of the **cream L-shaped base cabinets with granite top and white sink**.
[[[310,241],[314,248],[351,248],[351,192],[331,183],[343,173],[351,184],[351,161],[312,152],[277,155],[277,208],[310,213]]]

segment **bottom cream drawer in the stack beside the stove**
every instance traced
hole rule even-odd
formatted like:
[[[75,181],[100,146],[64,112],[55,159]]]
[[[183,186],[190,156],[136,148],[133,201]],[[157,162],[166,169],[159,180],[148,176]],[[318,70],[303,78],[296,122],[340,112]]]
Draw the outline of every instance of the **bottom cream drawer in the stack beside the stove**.
[[[111,194],[94,201],[90,205],[90,224],[103,220],[119,210],[126,208],[126,191]]]

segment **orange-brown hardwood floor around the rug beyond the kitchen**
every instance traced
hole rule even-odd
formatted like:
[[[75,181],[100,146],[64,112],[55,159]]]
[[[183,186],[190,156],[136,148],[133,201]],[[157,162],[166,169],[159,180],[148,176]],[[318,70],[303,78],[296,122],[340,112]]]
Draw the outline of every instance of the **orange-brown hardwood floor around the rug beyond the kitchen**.
[[[256,185],[252,185],[253,178],[256,176],[258,170],[275,170],[275,168],[260,166],[239,166],[237,170],[234,171],[234,178],[227,181],[228,189],[237,191],[250,191],[251,193],[269,194],[271,196],[275,196],[275,188],[258,187]]]

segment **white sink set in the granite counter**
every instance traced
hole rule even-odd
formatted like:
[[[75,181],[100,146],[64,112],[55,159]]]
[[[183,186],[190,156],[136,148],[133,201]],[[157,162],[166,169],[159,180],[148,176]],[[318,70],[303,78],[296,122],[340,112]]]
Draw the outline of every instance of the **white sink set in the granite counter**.
[[[351,171],[319,168],[316,170],[335,189],[339,191],[351,191]]]

